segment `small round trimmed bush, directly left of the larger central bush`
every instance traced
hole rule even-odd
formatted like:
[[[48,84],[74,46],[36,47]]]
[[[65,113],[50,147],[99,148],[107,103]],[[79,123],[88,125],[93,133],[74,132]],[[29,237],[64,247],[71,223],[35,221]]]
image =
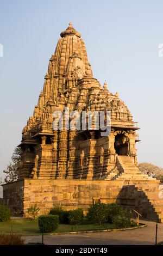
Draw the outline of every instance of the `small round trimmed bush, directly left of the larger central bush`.
[[[71,225],[80,225],[83,221],[83,210],[78,208],[76,210],[68,211],[68,223]]]

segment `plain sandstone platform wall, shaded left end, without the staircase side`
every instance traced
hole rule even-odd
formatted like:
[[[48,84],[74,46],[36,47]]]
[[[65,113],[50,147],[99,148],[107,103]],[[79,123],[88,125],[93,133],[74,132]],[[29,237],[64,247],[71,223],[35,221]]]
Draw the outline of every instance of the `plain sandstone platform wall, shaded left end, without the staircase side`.
[[[4,204],[14,215],[27,216],[27,209],[33,204],[40,208],[40,214],[47,213],[54,204],[64,209],[89,208],[93,202],[115,202],[123,182],[106,180],[41,180],[24,179],[3,185]]]

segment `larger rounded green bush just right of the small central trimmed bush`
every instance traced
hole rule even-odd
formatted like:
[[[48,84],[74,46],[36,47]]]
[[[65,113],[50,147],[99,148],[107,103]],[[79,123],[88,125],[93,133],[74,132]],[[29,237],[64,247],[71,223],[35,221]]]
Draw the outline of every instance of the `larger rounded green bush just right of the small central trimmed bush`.
[[[107,205],[103,203],[92,204],[87,213],[87,220],[101,225],[108,217]]]

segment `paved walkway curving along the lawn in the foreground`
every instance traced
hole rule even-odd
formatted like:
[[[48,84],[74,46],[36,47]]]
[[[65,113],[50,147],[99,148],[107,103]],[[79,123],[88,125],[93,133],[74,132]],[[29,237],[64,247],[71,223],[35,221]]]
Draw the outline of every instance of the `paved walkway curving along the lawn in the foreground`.
[[[46,235],[46,245],[153,245],[155,222],[142,221],[148,226],[135,230],[99,233]],[[41,242],[41,236],[24,236],[26,242]],[[158,224],[158,242],[163,241],[163,223]]]

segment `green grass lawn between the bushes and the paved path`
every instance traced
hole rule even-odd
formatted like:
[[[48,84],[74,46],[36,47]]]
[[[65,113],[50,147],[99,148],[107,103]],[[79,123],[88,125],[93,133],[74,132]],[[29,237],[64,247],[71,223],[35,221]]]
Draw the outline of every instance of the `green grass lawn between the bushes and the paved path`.
[[[82,225],[68,225],[59,224],[57,230],[54,233],[65,233],[69,231],[86,231],[86,230],[98,230],[98,229],[112,229],[114,225],[112,224],[82,224]],[[21,234],[21,235],[39,235],[40,230],[38,222],[30,221],[26,219],[11,220],[9,222],[0,222],[0,234]]]

